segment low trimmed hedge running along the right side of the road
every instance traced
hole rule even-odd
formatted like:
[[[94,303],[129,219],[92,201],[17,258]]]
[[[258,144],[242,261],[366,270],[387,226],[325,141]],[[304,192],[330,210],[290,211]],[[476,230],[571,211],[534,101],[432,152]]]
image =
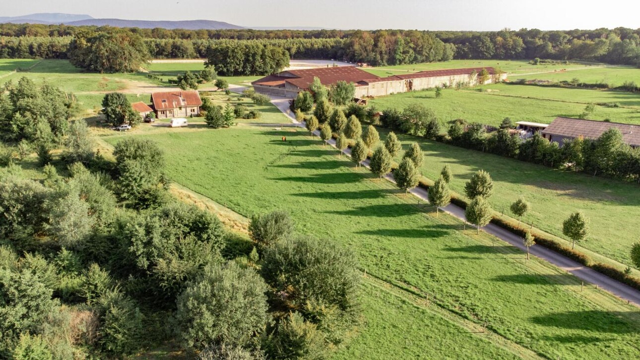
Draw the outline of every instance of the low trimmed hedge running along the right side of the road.
[[[333,137],[335,138],[336,136],[333,136]],[[348,147],[351,148],[351,145],[349,145]],[[391,172],[393,173],[393,171],[396,168],[397,166],[396,164],[394,164],[394,166],[391,169]],[[429,184],[427,184],[422,179],[420,179],[420,181],[418,182],[418,187],[426,191],[429,191]],[[461,198],[458,198],[456,196],[451,196],[451,203],[463,209],[467,208],[467,201]],[[513,224],[508,223],[507,221],[504,221],[500,217],[493,217],[493,219],[491,219],[491,223],[519,237],[525,237],[526,235],[524,229],[517,228],[516,226],[513,226]],[[618,280],[623,284],[626,284],[628,286],[631,286],[632,288],[635,288],[636,290],[640,290],[640,279],[634,278],[633,276],[630,276],[625,272],[620,271],[604,263],[595,263],[591,260],[591,258],[589,258],[587,254],[581,253],[580,251],[572,249],[568,246],[564,246],[563,244],[560,244],[556,240],[552,240],[552,239],[549,239],[548,237],[541,236],[539,233],[536,233],[534,236],[536,238],[537,245],[546,247],[547,249],[550,249],[552,251],[555,251],[556,253],[566,256],[567,258],[570,258],[575,262],[578,262],[584,266],[590,267],[591,269],[596,270],[597,272],[600,272],[600,274],[604,274],[605,276],[609,276],[609,278]]]

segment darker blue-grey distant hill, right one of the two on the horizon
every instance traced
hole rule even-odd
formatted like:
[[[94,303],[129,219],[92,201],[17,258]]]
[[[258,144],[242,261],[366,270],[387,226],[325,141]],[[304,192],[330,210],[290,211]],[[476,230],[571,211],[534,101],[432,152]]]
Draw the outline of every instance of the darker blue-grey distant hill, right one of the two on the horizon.
[[[184,20],[184,21],[154,21],[154,20],[122,20],[122,19],[86,19],[65,22],[70,26],[114,26],[114,27],[140,27],[141,29],[187,29],[187,30],[217,30],[217,29],[244,29],[242,26],[229,24],[228,22],[214,20]]]

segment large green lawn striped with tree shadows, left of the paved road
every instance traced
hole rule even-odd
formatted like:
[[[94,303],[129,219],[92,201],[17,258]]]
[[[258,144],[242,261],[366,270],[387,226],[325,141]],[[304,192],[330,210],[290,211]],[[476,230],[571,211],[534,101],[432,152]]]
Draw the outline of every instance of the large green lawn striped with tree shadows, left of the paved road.
[[[115,144],[126,136],[136,135],[104,139]],[[432,207],[355,169],[306,132],[240,125],[141,136],[162,146],[175,182],[245,216],[287,210],[298,231],[353,249],[369,276],[428,294],[429,306],[457,315],[458,323],[486,324],[512,350],[522,345],[563,359],[639,354],[637,308],[592,287],[580,293],[573,276],[537,260],[525,263],[524,254],[492,245],[488,235],[463,233],[452,217],[426,215]],[[365,325],[340,357],[504,357],[481,341],[474,356],[468,330],[447,331],[422,311],[397,311],[397,302],[376,300],[380,295],[366,289]]]

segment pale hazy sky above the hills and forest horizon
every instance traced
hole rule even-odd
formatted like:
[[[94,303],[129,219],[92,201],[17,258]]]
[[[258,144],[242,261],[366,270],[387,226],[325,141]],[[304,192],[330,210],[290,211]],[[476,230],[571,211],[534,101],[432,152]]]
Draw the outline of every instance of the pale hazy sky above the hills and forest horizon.
[[[0,0],[0,16],[207,19],[240,26],[499,30],[640,27],[640,0]]]

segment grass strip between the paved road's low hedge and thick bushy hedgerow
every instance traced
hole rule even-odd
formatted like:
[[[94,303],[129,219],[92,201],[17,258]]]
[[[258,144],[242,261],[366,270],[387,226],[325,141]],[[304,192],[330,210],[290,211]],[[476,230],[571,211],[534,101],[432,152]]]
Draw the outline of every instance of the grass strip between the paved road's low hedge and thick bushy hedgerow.
[[[388,130],[378,129],[385,138]],[[422,174],[431,180],[449,164],[452,190],[464,194],[465,183],[479,169],[493,178],[492,207],[511,215],[509,205],[524,196],[531,212],[523,218],[536,228],[563,237],[562,223],[572,212],[582,211],[591,219],[591,235],[579,243],[598,254],[630,265],[629,251],[640,238],[640,185],[570,173],[498,155],[445,145],[415,136],[398,135],[404,148],[417,141],[424,151]],[[396,161],[402,159],[402,153]]]

